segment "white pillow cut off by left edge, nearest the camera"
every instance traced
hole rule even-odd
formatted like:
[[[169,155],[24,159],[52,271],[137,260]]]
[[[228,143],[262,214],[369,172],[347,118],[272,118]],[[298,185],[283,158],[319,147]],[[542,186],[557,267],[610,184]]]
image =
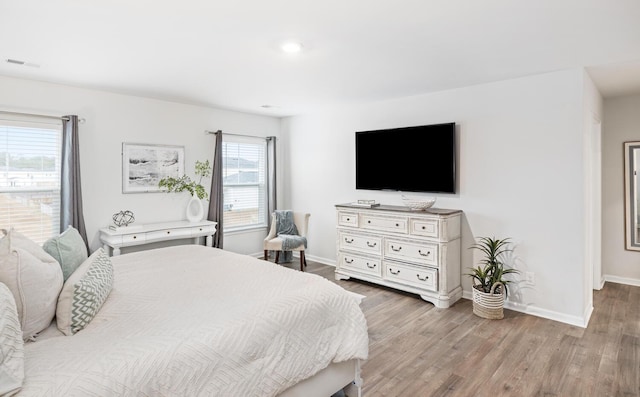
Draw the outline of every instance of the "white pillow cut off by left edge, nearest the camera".
[[[24,344],[16,310],[16,301],[9,288],[0,283],[0,396],[10,396],[24,381]]]

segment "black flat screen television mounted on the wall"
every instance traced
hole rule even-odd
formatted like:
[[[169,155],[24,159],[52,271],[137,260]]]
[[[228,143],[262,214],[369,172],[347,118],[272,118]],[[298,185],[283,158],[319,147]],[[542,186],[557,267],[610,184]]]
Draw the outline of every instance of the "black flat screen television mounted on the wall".
[[[455,123],[356,132],[356,189],[455,193]]]

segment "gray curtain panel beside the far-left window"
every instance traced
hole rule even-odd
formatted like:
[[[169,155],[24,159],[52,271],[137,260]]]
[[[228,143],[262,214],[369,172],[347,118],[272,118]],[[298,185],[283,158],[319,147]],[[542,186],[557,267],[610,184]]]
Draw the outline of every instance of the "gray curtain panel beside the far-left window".
[[[87,249],[87,230],[82,212],[80,186],[80,147],[78,144],[78,116],[62,118],[62,164],[60,184],[60,232],[73,226],[78,230]]]

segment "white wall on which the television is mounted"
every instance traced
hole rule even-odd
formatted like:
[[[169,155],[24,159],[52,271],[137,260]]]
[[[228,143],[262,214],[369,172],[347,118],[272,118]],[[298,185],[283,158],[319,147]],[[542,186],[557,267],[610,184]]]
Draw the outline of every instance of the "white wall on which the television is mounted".
[[[581,70],[561,71],[284,120],[284,205],[312,214],[309,257],[335,263],[334,204],[401,204],[400,193],[354,189],[355,131],[453,121],[458,193],[436,206],[464,211],[463,270],[474,238],[511,237],[517,268],[536,280],[513,289],[512,306],[584,325],[583,84]]]

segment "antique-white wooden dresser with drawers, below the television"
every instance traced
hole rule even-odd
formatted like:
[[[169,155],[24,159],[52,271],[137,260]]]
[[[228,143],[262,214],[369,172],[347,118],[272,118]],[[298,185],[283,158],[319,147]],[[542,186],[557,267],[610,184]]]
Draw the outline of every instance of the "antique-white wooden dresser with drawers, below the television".
[[[351,277],[419,294],[447,308],[462,297],[462,211],[336,205],[337,280]]]

